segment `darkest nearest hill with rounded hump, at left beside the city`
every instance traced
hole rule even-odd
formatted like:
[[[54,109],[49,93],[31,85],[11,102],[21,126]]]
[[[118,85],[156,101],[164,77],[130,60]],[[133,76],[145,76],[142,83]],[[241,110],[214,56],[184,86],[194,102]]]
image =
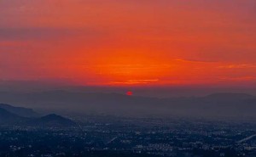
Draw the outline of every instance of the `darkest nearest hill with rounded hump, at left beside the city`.
[[[9,109],[21,109],[21,110],[23,109],[23,108],[14,107],[11,105],[2,105],[2,106],[3,107],[8,106]],[[32,110],[32,109],[27,109],[27,110]],[[51,114],[51,115],[45,115],[39,118],[25,117],[25,116],[20,116],[20,115],[11,113],[7,109],[0,108],[0,125],[60,127],[60,126],[75,126],[75,122],[62,117],[61,115]]]

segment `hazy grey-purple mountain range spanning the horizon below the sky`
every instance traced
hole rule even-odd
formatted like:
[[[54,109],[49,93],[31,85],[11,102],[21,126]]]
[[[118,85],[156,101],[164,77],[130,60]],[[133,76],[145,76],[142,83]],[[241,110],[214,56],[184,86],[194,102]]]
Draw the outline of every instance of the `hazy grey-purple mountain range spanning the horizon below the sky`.
[[[76,114],[254,117],[256,97],[246,93],[214,93],[206,97],[147,98],[119,93],[2,93],[0,101]]]

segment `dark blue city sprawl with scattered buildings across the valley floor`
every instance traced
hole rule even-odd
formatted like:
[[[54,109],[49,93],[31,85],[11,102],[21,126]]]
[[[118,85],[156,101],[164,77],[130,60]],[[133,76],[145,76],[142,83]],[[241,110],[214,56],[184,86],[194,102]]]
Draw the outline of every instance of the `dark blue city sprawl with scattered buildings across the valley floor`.
[[[1,126],[0,156],[178,156],[256,154],[256,123],[88,115],[77,126]],[[78,122],[79,121],[79,122]]]

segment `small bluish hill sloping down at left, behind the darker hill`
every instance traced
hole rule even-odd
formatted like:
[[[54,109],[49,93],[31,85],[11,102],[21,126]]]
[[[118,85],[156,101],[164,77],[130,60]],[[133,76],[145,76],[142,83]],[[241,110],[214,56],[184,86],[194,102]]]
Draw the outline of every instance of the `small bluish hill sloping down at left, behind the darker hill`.
[[[9,112],[15,114],[15,115],[20,115],[23,117],[37,117],[39,116],[38,113],[36,113],[33,109],[28,109],[28,108],[21,108],[21,107],[15,107],[9,104],[0,104],[0,108],[6,109]]]

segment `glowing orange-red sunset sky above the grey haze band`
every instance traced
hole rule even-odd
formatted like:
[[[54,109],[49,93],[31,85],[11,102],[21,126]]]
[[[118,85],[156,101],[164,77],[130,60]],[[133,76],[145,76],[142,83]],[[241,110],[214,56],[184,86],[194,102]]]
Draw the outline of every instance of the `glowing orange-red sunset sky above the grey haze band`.
[[[255,86],[255,0],[1,0],[0,80]]]

